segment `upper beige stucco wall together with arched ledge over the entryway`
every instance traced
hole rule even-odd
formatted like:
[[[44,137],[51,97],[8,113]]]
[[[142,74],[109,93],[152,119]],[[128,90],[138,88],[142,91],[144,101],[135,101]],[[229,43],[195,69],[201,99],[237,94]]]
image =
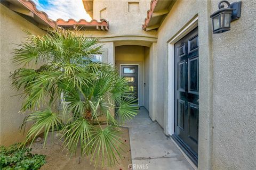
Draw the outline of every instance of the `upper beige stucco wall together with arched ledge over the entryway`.
[[[129,2],[139,3],[138,12],[129,12]],[[81,31],[86,36],[99,38],[102,43],[114,42],[115,46],[148,46],[156,42],[157,31],[143,31],[142,24],[150,8],[150,0],[95,0],[93,1],[93,19],[100,20],[100,11],[105,9],[105,19],[109,22],[108,31]]]

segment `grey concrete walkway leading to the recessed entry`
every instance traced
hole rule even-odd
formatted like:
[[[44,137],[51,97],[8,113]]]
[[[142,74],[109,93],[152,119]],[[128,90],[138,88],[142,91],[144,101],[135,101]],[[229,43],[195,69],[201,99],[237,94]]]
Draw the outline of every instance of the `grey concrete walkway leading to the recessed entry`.
[[[173,141],[166,137],[161,126],[150,120],[144,107],[124,126],[129,128],[132,164],[137,166],[133,170],[193,169]]]

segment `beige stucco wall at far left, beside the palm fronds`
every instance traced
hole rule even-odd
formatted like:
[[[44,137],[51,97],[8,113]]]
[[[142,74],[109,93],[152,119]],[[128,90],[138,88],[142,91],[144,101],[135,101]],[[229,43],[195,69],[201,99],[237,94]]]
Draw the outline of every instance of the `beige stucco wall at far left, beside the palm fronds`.
[[[38,35],[44,33],[43,30],[1,4],[1,145],[11,145],[24,139],[19,127],[26,114],[18,113],[22,100],[19,100],[19,96],[12,97],[21,91],[17,92],[11,88],[11,78],[9,78],[10,72],[18,69],[11,62],[11,53],[13,48],[17,47],[14,44],[25,40],[26,33],[22,29]]]

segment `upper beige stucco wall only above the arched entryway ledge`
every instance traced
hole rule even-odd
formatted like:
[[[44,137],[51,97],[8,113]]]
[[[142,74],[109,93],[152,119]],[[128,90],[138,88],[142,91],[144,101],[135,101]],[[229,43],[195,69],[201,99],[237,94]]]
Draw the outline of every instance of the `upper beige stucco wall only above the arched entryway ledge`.
[[[129,2],[138,2],[139,11],[129,12]],[[109,21],[109,31],[98,31],[97,35],[156,35],[156,31],[146,32],[140,29],[150,8],[150,0],[94,0],[93,19],[100,20],[100,11],[106,8],[105,19]]]

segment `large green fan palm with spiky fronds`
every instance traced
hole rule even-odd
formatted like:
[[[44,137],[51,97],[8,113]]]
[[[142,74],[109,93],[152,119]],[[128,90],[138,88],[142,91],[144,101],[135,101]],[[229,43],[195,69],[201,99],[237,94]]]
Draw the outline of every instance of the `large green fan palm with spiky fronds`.
[[[45,145],[48,134],[59,131],[71,154],[79,146],[95,165],[99,158],[102,166],[104,159],[111,166],[122,158],[119,126],[137,114],[138,105],[113,66],[92,62],[100,50],[97,39],[65,30],[28,33],[14,49],[20,69],[11,75],[12,86],[23,90],[21,111],[29,112],[22,128],[32,122],[24,145],[42,132]]]

